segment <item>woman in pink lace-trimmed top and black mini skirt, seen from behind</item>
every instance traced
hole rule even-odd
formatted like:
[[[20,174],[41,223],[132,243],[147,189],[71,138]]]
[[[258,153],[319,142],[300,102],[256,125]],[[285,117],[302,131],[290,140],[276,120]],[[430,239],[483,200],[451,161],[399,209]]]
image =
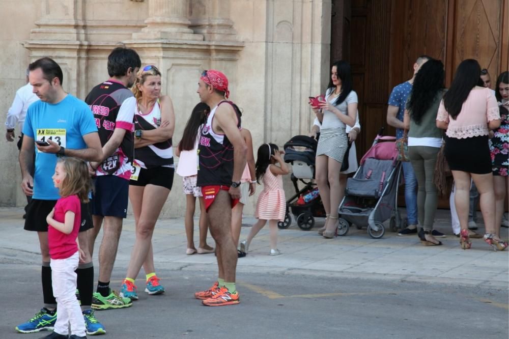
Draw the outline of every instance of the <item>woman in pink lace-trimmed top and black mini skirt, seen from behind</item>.
[[[460,219],[460,244],[468,249],[468,209],[470,178],[480,196],[480,209],[486,226],[485,241],[495,250],[507,243],[495,234],[495,193],[491,167],[489,130],[500,126],[500,114],[493,92],[476,86],[480,66],[476,60],[464,60],[456,70],[449,91],[437,114],[437,127],[445,129],[445,158],[456,185],[455,205]]]

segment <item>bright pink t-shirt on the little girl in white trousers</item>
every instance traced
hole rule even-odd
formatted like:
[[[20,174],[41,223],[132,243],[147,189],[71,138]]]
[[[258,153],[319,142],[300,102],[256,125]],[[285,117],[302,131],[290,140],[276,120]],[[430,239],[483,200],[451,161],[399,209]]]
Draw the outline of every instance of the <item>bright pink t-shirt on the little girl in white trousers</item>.
[[[74,212],[74,225],[71,233],[62,233],[48,225],[48,247],[51,259],[67,259],[78,250],[76,238],[78,237],[81,222],[81,204],[77,195],[60,198],[56,202],[53,219],[64,222],[67,211]]]

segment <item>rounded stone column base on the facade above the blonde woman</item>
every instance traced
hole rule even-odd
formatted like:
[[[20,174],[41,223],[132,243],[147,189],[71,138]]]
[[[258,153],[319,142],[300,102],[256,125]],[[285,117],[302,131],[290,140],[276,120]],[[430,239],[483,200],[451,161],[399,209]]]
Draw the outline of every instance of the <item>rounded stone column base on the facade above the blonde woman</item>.
[[[148,0],[149,17],[146,27],[140,33],[133,33],[133,39],[203,40],[189,28],[187,0]]]

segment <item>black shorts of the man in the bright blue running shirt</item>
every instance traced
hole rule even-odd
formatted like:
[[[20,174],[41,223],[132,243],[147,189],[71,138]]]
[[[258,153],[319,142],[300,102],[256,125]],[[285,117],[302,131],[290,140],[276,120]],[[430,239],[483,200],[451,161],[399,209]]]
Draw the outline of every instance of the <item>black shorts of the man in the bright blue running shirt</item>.
[[[48,232],[46,217],[55,207],[56,200],[32,199],[26,207],[25,227],[26,231]],[[79,232],[87,231],[94,227],[92,223],[92,201],[88,204],[81,203],[81,223]]]

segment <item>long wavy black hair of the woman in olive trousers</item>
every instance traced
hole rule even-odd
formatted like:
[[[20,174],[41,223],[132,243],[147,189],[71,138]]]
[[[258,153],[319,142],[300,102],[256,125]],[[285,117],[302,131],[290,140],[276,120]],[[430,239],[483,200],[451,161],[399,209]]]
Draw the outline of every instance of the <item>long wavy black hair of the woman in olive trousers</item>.
[[[417,125],[433,104],[438,92],[444,89],[444,64],[440,60],[429,60],[415,74],[408,110]]]

